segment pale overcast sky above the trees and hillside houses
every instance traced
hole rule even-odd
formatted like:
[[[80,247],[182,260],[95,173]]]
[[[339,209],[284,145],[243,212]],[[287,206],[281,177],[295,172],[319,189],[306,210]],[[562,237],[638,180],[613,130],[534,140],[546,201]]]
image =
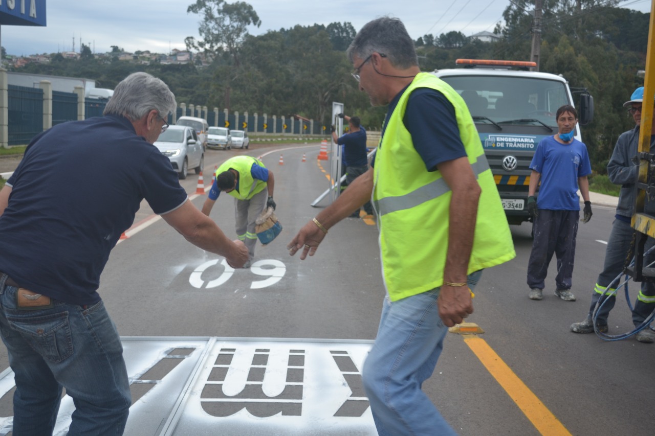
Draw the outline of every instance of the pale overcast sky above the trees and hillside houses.
[[[198,37],[200,16],[187,14],[193,0],[48,0],[47,26],[2,26],[0,40],[8,54],[79,52],[80,39],[96,53],[117,45],[128,52],[167,53],[185,49],[184,39]],[[228,3],[234,3],[228,1]],[[383,15],[400,18],[409,35],[460,31],[472,35],[493,31],[510,0],[246,0],[260,27],[252,35],[288,29],[297,24],[350,22],[358,31]],[[620,7],[650,12],[650,0],[622,0]]]

